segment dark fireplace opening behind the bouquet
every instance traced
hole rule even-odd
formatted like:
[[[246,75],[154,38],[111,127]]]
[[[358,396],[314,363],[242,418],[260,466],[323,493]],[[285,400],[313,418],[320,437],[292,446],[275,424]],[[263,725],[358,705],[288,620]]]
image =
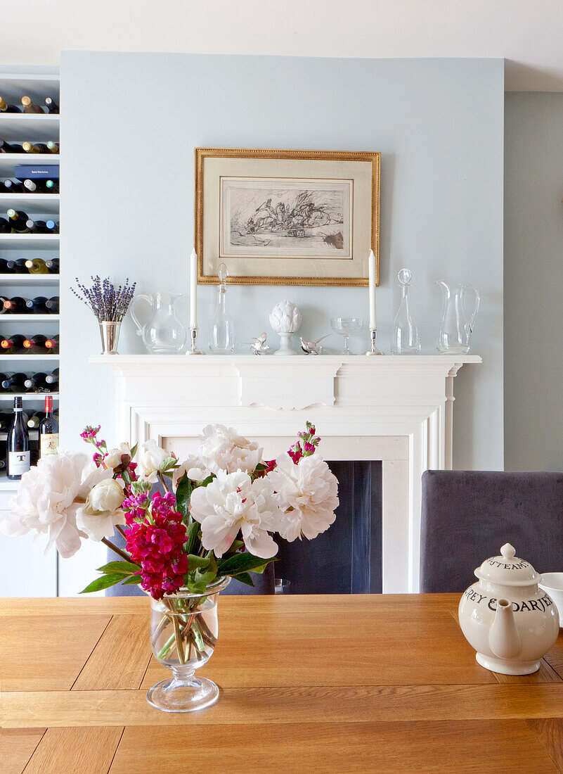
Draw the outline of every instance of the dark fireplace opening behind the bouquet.
[[[336,521],[314,540],[287,543],[277,536],[277,590],[284,594],[381,593],[382,464],[330,461],[329,465],[339,481]]]

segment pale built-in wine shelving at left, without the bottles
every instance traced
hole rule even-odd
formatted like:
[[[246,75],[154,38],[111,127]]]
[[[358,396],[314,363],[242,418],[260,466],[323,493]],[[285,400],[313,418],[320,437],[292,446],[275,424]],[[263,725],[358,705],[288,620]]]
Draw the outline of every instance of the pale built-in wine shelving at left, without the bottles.
[[[43,105],[45,97],[53,97],[60,104],[59,75],[54,72],[0,73],[0,94],[9,103],[21,104],[21,98],[28,94],[36,104]],[[53,114],[0,113],[0,139],[22,143],[60,140],[60,117]],[[0,180],[17,180],[15,167],[22,164],[59,166],[58,153],[0,153]],[[0,192],[0,217],[12,207],[29,214],[33,220],[59,220],[60,194]],[[6,259],[59,257],[60,236],[58,234],[0,234],[0,257]],[[0,273],[0,296],[58,296],[58,274],[2,274]],[[0,315],[0,337],[13,334],[45,334],[47,337],[59,333],[58,314],[2,314]],[[64,346],[64,343],[63,343]],[[59,367],[59,354],[2,354],[0,371],[52,372]],[[0,413],[10,411],[13,400],[21,396],[23,409],[30,416],[43,411],[44,392],[0,392]],[[53,395],[55,409],[59,409],[58,392]],[[30,432],[30,439],[36,438],[36,430]],[[0,435],[0,456],[5,452],[4,437]],[[17,481],[5,478],[0,470],[0,491],[15,490]],[[6,494],[8,494],[6,491]],[[0,509],[2,503],[0,502]]]

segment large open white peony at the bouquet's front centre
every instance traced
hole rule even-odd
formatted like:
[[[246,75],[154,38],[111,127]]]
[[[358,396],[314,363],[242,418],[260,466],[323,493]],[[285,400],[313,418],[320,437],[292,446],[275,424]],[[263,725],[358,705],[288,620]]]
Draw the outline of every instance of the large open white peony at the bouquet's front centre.
[[[244,471],[220,470],[210,484],[192,492],[189,512],[201,524],[203,547],[217,557],[230,549],[239,530],[255,557],[271,559],[278,553],[268,529],[277,528],[281,513],[271,484],[264,479],[253,483]]]

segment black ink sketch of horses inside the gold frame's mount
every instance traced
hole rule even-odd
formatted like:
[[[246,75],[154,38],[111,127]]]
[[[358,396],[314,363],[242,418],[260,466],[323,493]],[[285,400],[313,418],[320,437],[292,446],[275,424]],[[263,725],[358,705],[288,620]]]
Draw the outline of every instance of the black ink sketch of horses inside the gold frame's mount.
[[[352,180],[222,178],[224,257],[346,258]]]

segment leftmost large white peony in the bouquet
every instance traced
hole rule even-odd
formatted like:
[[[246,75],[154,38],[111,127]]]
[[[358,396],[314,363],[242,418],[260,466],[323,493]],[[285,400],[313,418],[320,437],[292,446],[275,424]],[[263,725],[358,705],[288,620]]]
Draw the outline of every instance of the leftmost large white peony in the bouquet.
[[[0,530],[5,535],[47,535],[46,550],[55,543],[63,559],[72,557],[84,536],[77,527],[77,511],[90,489],[107,478],[111,471],[96,467],[87,454],[60,451],[42,457],[22,475]]]

